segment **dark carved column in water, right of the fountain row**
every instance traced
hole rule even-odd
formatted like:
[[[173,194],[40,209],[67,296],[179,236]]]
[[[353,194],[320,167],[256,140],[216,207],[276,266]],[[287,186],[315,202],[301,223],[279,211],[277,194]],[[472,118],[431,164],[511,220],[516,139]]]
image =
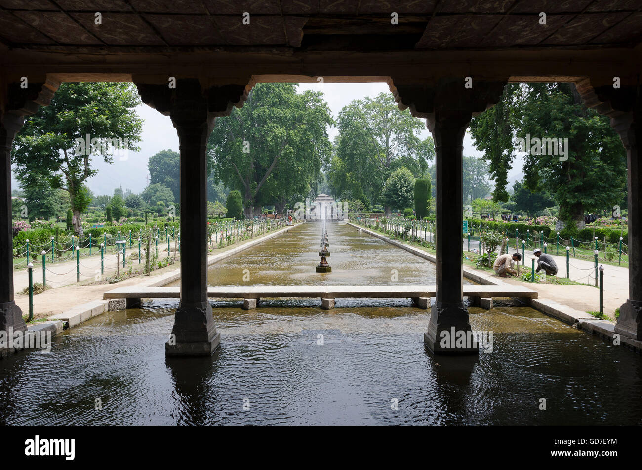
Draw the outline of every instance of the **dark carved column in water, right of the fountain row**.
[[[464,134],[474,114],[499,101],[506,82],[473,82],[464,77],[429,85],[392,83],[400,109],[426,118],[435,139],[435,212],[437,213],[436,301],[430,311],[424,344],[433,353],[478,351],[464,306],[462,272],[462,152]]]

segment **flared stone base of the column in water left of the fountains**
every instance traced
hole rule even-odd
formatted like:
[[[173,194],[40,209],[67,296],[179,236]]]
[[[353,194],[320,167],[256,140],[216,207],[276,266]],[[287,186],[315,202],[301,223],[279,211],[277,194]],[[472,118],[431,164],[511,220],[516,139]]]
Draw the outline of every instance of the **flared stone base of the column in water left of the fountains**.
[[[209,302],[181,304],[174,317],[166,356],[211,356],[221,344]]]

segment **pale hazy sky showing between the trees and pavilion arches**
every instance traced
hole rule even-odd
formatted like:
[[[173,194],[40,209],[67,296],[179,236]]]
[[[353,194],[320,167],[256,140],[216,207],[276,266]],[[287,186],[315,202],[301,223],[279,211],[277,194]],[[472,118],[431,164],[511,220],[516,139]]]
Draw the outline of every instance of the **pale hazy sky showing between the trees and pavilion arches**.
[[[363,99],[367,96],[374,98],[381,92],[390,92],[386,83],[301,83],[299,90],[323,91],[334,118],[352,100]],[[168,116],[163,116],[157,110],[143,104],[136,108],[136,112],[144,119],[142,141],[138,144],[141,151],[129,152],[126,160],[120,160],[116,156],[112,164],[105,164],[105,162],[93,157],[94,165],[98,168],[98,175],[87,180],[87,184],[95,195],[112,195],[114,187],[119,185],[123,186],[123,189],[131,189],[134,193],[140,193],[147,185],[149,157],[164,149],[178,151],[178,136]],[[425,119],[421,120],[424,121],[425,126]],[[334,139],[338,134],[338,129],[330,128],[328,133],[330,138]],[[427,135],[429,132],[426,128],[422,137]],[[464,138],[464,155],[482,156],[482,153],[473,147],[469,134],[466,134]],[[519,166],[521,167],[521,164]],[[515,168],[510,171],[509,179],[515,175],[516,171]]]

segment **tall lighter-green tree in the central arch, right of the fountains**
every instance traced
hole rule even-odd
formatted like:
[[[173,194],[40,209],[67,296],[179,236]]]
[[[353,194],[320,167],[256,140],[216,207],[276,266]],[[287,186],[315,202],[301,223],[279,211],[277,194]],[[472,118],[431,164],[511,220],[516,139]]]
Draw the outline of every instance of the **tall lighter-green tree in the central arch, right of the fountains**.
[[[390,93],[354,100],[339,113],[336,151],[327,170],[335,196],[361,200],[366,205],[384,202],[384,184],[392,173],[408,168],[413,177],[428,171],[435,155],[431,137],[421,139],[422,119],[401,111]]]

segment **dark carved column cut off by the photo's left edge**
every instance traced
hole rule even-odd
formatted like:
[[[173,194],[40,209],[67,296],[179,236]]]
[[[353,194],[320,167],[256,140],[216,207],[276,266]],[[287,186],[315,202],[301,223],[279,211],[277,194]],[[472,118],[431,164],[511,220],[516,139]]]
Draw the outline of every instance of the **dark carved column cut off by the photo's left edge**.
[[[11,210],[11,149],[24,116],[48,105],[59,83],[18,83],[0,86],[0,331],[24,331],[22,311],[13,300],[13,234]],[[0,349],[0,357],[12,353]]]

